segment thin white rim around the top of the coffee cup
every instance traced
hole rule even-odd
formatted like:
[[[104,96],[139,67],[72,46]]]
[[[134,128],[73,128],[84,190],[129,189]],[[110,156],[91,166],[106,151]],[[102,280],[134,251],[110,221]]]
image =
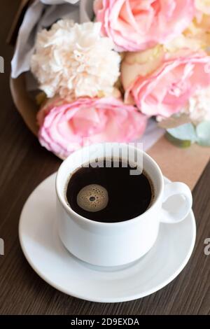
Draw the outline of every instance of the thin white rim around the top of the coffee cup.
[[[102,144],[111,144],[113,145],[114,143],[102,143]],[[120,145],[126,145],[126,143],[118,143]],[[87,146],[87,148],[91,148],[94,147],[96,144],[92,144],[91,146]],[[134,148],[137,149],[135,146],[129,146],[130,148]],[[155,198],[155,202],[151,205],[151,207],[149,207],[146,211],[144,211],[143,214],[136,216],[134,218],[131,218],[127,221],[121,221],[121,222],[113,222],[113,223],[104,223],[104,222],[99,222],[99,221],[92,221],[89,218],[83,217],[80,214],[76,213],[76,211],[74,211],[73,209],[71,209],[70,206],[68,206],[68,204],[66,203],[66,200],[64,200],[64,196],[59,193],[59,172],[62,171],[62,168],[65,166],[66,162],[69,161],[69,158],[71,158],[72,154],[75,153],[80,153],[83,149],[85,149],[86,147],[83,148],[79,148],[77,151],[71,153],[63,162],[62,164],[59,166],[59,169],[57,170],[57,174],[56,174],[56,180],[55,180],[55,191],[56,191],[56,195],[57,198],[59,200],[59,202],[62,204],[62,206],[64,207],[64,210],[67,212],[67,214],[69,214],[70,216],[73,215],[74,217],[76,217],[76,219],[78,221],[82,221],[83,223],[90,223],[90,225],[94,225],[94,226],[106,226],[106,228],[109,227],[114,227],[114,226],[120,226],[120,225],[130,225],[130,223],[134,223],[139,221],[145,214],[149,214],[153,208],[155,207],[155,204],[160,200],[160,197],[162,196],[163,193],[163,187],[164,187],[164,181],[163,181],[163,176],[162,176],[162,172],[160,167],[158,166],[157,162],[155,162],[155,160],[153,160],[153,158],[151,158],[150,155],[148,155],[145,151],[141,151],[140,149],[137,150],[141,153],[144,154],[144,157],[146,157],[149,161],[151,161],[154,165],[154,167],[156,168],[159,176],[160,176],[160,191],[158,193],[158,196]]]

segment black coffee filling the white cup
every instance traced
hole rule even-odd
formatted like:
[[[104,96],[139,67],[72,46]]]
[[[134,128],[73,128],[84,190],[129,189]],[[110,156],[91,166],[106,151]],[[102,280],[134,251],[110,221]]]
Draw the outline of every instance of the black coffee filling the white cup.
[[[71,209],[103,223],[127,221],[143,214],[153,201],[148,174],[131,175],[134,168],[122,161],[118,167],[113,160],[100,163],[104,167],[81,167],[71,176],[66,188]]]

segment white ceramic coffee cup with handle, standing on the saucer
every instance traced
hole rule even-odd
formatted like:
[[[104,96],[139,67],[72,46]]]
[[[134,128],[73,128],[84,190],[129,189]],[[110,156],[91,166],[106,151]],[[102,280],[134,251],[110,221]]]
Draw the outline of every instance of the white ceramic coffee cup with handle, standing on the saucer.
[[[144,214],[128,221],[118,223],[91,221],[73,211],[66,202],[69,177],[85,163],[96,158],[104,158],[105,146],[109,146],[106,158],[111,158],[112,152],[119,147],[123,151],[126,148],[138,157],[143,157],[144,170],[153,181],[155,190],[153,204]],[[124,155],[123,160],[127,160]],[[80,148],[69,155],[57,172],[56,193],[59,237],[64,246],[80,260],[99,266],[125,265],[141,258],[155,244],[160,223],[167,223],[166,225],[179,223],[186,218],[192,207],[192,195],[186,184],[176,182],[167,183],[165,186],[157,163],[139,148],[127,144],[94,144]],[[173,195],[179,198],[181,195],[182,202],[179,209],[170,212],[164,209],[162,204]]]

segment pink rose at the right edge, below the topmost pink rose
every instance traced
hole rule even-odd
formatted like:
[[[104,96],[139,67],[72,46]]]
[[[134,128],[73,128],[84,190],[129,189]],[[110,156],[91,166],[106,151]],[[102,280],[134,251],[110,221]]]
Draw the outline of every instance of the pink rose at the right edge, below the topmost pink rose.
[[[137,54],[134,56],[137,57]],[[132,69],[134,62],[131,58],[130,62],[126,61],[126,57],[124,61],[122,76],[126,90],[125,102],[137,104],[147,116],[169,118],[181,111],[197,90],[210,85],[210,57],[204,52],[165,54],[158,69],[146,76],[141,76],[141,64],[136,63]],[[132,83],[127,85],[125,72],[129,71],[129,65]]]

